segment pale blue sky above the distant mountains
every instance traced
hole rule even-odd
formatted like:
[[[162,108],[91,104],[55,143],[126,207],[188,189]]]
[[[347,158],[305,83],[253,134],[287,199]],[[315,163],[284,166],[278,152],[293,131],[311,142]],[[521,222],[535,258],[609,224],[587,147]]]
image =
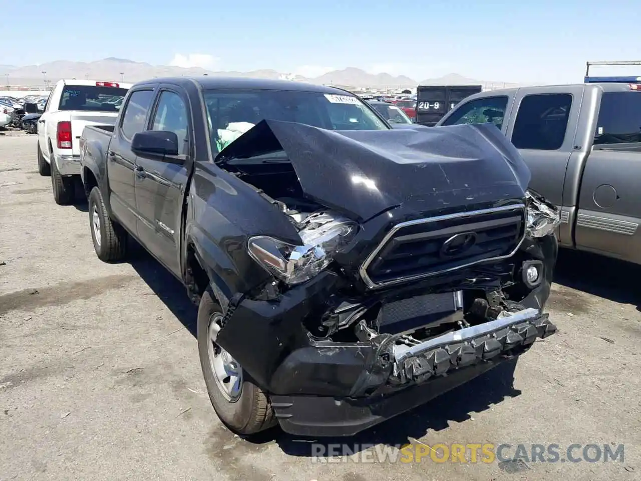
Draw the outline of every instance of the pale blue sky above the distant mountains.
[[[582,81],[641,60],[641,4],[594,0],[3,1],[0,64],[115,56],[213,70]],[[37,14],[35,30],[22,35]],[[20,39],[20,40],[19,40]],[[12,45],[19,48],[9,48]],[[641,66],[595,74],[640,74]]]

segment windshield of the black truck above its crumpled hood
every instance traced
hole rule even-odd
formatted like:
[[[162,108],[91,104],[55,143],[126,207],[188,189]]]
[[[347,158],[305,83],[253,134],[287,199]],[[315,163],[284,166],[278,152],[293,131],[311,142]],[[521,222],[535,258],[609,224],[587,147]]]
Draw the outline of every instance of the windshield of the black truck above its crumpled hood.
[[[263,119],[327,130],[388,130],[358,97],[298,90],[205,90],[210,135],[217,151]]]

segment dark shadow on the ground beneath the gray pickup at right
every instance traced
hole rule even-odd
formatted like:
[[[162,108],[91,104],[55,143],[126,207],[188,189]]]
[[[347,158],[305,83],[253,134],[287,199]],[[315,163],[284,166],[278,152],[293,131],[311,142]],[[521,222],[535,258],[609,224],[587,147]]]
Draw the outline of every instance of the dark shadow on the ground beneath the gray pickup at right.
[[[561,249],[554,283],[641,310],[641,266],[592,253]]]

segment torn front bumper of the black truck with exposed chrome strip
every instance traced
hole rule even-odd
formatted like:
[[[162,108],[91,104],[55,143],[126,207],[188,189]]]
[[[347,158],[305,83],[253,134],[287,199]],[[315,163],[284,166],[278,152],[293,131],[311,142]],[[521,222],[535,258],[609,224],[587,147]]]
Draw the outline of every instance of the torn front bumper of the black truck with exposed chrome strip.
[[[326,309],[335,282],[322,273],[277,302],[232,301],[219,333],[219,344],[269,392],[276,418],[290,434],[355,434],[556,332],[547,314],[522,308],[413,346],[385,333],[368,342],[313,339],[301,319]]]

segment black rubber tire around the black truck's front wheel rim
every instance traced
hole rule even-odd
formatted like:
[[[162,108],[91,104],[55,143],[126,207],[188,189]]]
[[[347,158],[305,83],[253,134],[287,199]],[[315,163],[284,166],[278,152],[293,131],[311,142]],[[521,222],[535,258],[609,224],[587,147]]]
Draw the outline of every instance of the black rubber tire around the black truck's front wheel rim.
[[[227,400],[215,379],[209,361],[208,343],[210,319],[222,314],[222,308],[210,291],[205,291],[198,307],[197,338],[198,353],[203,369],[204,382],[209,398],[222,423],[238,435],[252,435],[276,425],[269,396],[252,382],[249,374],[242,371],[242,389],[235,401]]]

